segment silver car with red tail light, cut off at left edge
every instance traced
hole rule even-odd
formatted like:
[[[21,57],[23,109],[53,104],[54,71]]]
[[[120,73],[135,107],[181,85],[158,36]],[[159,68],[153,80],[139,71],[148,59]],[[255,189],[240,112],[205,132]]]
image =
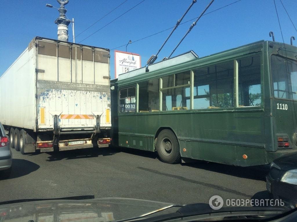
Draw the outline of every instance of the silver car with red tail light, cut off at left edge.
[[[9,138],[6,136],[4,127],[0,123],[0,179],[8,178],[11,172],[12,152]]]

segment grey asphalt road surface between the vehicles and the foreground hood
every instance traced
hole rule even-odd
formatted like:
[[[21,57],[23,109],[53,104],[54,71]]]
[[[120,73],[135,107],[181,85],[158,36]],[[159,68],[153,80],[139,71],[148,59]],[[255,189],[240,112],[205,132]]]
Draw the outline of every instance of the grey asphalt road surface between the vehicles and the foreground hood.
[[[0,176],[0,202],[76,195],[126,197],[176,204],[250,199],[266,190],[267,170],[198,161],[169,165],[151,152],[81,149],[22,155],[12,150],[12,174]]]

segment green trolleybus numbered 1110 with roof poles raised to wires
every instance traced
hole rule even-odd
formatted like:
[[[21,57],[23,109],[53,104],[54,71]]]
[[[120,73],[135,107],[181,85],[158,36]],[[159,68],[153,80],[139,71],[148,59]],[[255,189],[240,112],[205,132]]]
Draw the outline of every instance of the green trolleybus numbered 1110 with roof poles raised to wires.
[[[252,166],[297,152],[296,58],[295,46],[259,41],[123,73],[112,87],[113,144],[165,163]]]

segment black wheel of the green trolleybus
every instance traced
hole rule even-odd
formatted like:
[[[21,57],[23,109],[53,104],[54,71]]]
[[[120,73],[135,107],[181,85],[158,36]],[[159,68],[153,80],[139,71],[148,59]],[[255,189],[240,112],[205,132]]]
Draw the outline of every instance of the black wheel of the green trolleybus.
[[[175,134],[168,129],[162,130],[157,137],[157,152],[164,163],[180,163],[181,155]]]

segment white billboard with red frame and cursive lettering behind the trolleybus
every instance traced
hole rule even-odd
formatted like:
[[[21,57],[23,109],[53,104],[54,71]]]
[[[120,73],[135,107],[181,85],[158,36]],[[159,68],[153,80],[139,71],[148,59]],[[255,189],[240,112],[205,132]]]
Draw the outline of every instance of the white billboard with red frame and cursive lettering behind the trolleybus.
[[[139,54],[132,52],[114,51],[114,70],[115,78],[120,74],[139,69],[141,67],[141,58]]]

